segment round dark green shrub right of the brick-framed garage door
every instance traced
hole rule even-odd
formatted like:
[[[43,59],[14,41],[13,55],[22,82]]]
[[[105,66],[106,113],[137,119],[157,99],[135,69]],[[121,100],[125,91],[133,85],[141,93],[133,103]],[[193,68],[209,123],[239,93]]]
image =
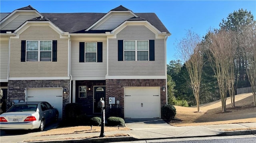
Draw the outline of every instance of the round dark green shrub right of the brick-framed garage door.
[[[163,119],[170,121],[176,115],[176,108],[173,105],[164,105],[162,107]]]

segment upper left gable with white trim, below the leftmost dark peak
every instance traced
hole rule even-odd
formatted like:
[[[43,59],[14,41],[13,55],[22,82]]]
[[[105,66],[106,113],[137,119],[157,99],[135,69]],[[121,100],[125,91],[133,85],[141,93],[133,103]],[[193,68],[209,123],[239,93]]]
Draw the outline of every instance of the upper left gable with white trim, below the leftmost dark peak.
[[[36,12],[16,12],[4,22],[1,22],[1,30],[15,30],[27,20],[38,17]]]

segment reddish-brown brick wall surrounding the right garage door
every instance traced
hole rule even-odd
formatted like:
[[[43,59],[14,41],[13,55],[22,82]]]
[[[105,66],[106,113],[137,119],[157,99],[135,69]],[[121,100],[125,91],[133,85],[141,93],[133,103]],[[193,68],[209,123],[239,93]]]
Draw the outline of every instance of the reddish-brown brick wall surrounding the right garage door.
[[[109,115],[110,105],[108,97],[115,97],[120,101],[121,115],[124,118],[124,87],[162,87],[166,86],[166,79],[106,79],[106,118]],[[160,90],[161,107],[166,104],[166,92]]]

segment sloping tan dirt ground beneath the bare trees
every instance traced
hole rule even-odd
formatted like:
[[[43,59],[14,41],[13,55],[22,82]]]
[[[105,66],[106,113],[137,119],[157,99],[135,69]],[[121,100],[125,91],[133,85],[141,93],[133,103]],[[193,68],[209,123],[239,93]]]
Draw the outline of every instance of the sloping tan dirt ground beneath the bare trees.
[[[174,121],[170,125],[193,126],[256,122],[256,107],[253,106],[252,93],[236,95],[235,106],[231,108],[230,98],[226,100],[227,111],[224,113],[220,100],[200,105],[200,113],[197,113],[196,106],[175,106],[175,118],[182,121]]]

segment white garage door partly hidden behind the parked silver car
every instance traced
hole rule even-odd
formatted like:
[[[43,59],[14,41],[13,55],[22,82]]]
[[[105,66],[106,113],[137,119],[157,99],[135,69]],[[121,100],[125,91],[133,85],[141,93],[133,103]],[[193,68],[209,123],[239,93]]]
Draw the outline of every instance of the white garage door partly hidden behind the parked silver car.
[[[27,101],[46,101],[59,111],[62,118],[62,88],[27,88]]]

